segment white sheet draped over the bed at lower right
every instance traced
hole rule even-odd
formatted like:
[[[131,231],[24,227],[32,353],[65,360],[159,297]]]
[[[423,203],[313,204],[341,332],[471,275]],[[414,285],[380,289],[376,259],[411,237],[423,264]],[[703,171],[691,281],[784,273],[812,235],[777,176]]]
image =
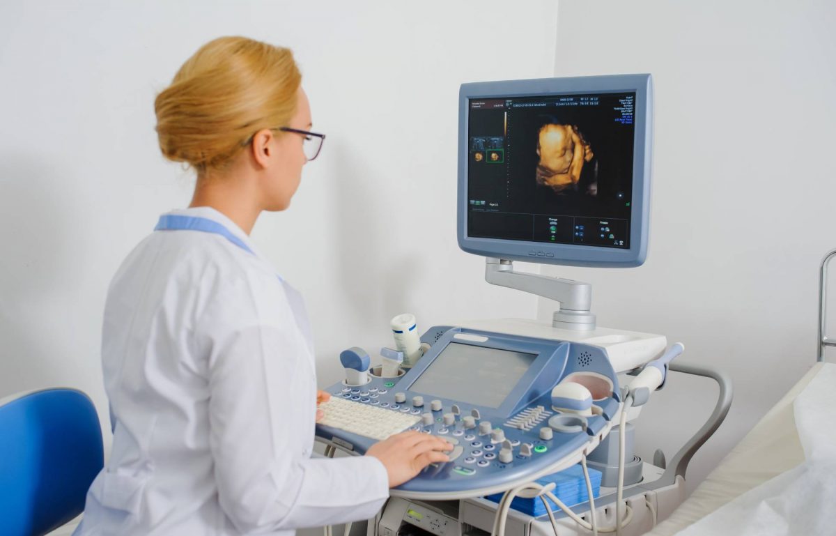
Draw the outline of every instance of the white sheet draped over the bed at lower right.
[[[793,416],[804,461],[743,493],[679,536],[836,533],[836,365],[820,368],[793,403]]]

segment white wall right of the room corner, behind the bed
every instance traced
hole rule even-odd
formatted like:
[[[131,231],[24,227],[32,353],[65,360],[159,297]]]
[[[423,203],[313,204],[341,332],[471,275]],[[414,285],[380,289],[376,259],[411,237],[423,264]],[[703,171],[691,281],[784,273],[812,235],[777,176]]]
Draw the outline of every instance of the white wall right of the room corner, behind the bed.
[[[641,268],[543,273],[593,283],[599,325],[681,340],[683,359],[732,375],[691,487],[815,360],[818,263],[836,247],[834,23],[823,0],[559,4],[555,75],[654,76],[650,253]],[[670,457],[714,396],[671,376],[640,420],[640,456]]]

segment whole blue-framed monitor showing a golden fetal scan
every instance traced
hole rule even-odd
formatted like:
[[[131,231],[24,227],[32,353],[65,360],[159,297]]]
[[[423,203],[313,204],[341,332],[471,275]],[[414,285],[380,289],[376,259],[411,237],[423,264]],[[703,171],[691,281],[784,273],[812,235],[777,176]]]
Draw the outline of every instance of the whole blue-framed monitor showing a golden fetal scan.
[[[462,84],[458,242],[492,258],[644,263],[650,74]]]

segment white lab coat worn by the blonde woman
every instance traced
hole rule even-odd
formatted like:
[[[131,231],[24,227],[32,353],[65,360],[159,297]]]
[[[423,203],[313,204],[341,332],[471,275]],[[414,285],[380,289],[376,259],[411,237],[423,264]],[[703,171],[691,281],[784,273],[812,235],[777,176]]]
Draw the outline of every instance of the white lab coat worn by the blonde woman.
[[[211,208],[171,212],[221,223]],[[110,284],[102,337],[113,451],[77,536],[232,536],[371,518],[374,457],[314,458],[316,376],[298,294],[257,253],[155,231]]]

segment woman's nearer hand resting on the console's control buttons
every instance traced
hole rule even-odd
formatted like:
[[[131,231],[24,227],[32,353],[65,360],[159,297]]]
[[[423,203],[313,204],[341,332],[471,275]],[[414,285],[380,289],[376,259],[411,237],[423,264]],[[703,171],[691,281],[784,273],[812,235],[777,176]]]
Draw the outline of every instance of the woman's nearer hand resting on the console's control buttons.
[[[424,434],[420,431],[404,431],[385,441],[375,443],[366,451],[366,456],[374,456],[386,467],[389,473],[389,487],[395,488],[415,477],[421,470],[434,462],[449,462],[444,451],[453,446],[441,437]]]

